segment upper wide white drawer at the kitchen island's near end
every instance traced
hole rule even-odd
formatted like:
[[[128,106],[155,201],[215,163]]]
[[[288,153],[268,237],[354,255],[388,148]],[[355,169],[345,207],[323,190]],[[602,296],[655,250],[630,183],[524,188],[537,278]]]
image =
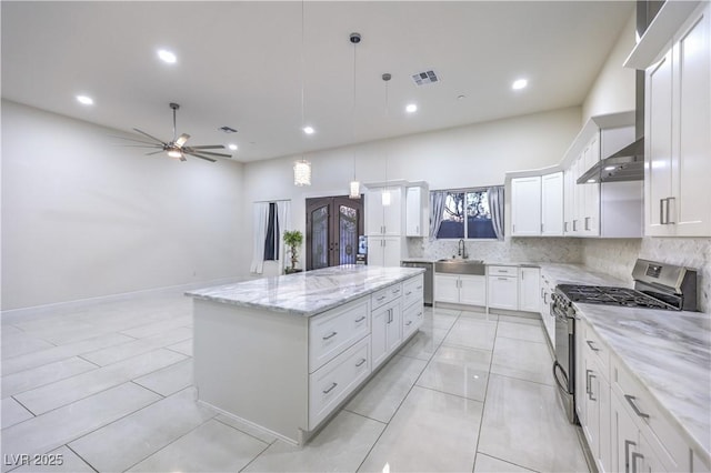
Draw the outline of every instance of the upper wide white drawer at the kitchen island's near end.
[[[368,298],[349,302],[309,320],[309,373],[370,333]]]

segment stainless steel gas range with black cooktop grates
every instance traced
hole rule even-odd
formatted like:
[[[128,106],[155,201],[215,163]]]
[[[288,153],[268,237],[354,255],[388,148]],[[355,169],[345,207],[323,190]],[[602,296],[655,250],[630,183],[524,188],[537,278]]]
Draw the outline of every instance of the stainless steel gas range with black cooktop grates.
[[[697,272],[683,266],[637,260],[634,289],[559,284],[552,294],[555,318],[553,378],[571,423],[575,423],[575,308],[574,303],[605,304],[669,311],[697,310]],[[673,316],[673,314],[670,314]]]

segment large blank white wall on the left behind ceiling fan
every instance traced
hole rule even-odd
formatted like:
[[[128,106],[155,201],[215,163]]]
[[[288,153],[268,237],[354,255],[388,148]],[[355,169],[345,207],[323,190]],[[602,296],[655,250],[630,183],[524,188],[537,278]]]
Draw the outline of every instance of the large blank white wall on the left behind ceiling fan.
[[[231,278],[242,164],[2,101],[2,309]]]

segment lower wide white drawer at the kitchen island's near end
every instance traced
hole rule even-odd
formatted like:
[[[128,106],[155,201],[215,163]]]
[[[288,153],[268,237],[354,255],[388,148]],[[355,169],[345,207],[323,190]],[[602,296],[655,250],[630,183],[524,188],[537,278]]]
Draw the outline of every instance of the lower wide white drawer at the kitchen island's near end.
[[[312,431],[370,375],[370,336],[309,375],[309,430]]]

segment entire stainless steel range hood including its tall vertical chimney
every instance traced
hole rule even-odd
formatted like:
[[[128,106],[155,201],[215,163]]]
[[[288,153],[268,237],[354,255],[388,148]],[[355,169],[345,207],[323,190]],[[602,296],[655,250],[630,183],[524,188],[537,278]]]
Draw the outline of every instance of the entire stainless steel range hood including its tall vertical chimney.
[[[638,0],[637,36],[641,38],[663,1]],[[644,71],[637,71],[634,91],[635,141],[601,159],[578,179],[579,184],[644,180]]]

